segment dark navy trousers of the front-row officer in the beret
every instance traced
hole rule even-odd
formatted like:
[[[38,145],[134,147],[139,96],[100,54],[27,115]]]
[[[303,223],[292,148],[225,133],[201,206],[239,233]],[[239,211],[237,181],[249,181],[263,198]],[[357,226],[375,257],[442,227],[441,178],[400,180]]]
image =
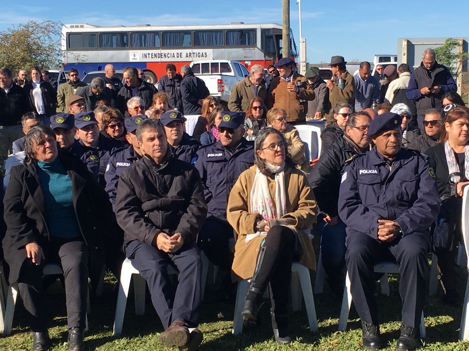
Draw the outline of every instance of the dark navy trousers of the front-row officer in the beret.
[[[373,266],[383,261],[393,261],[399,265],[401,274],[399,293],[402,299],[402,322],[418,328],[425,301],[429,235],[408,234],[387,244],[368,234],[352,234],[347,235],[346,244],[350,291],[362,321],[379,324]]]

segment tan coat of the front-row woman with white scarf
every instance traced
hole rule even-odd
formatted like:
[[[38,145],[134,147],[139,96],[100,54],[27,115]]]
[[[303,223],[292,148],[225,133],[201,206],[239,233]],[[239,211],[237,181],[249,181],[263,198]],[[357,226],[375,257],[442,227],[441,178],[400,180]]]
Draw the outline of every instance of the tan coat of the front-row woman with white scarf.
[[[254,233],[257,214],[251,213],[250,193],[257,166],[251,166],[239,176],[230,192],[227,206],[228,223],[238,234],[234,244],[232,271],[241,279],[251,278],[256,266],[257,253],[265,235],[259,235],[246,242],[246,234]],[[275,181],[267,178],[271,197],[275,203]],[[282,218],[296,219],[295,230],[298,238],[300,263],[310,270],[316,270],[316,256],[313,245],[306,234],[299,229],[309,228],[316,220],[318,207],[314,194],[304,173],[297,168],[285,168],[287,213]]]

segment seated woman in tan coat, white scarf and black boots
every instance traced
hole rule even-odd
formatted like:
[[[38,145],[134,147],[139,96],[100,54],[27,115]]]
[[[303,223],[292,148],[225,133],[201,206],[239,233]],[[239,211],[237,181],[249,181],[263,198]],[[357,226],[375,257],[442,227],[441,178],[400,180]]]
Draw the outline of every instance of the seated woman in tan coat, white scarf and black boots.
[[[265,128],[256,137],[255,165],[245,170],[230,192],[227,219],[238,234],[232,271],[251,278],[242,315],[257,318],[270,283],[275,340],[289,343],[287,295],[294,256],[311,270],[316,258],[310,227],[317,206],[306,176],[286,152],[284,135]]]

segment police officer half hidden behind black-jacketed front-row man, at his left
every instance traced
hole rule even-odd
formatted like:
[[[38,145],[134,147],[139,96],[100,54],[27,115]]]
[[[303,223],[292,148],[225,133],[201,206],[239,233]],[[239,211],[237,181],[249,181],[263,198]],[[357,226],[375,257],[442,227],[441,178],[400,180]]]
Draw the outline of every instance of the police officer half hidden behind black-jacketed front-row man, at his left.
[[[109,200],[115,206],[115,198],[117,192],[117,184],[121,173],[124,168],[129,167],[132,163],[142,158],[142,151],[138,146],[137,136],[135,131],[140,123],[147,117],[145,115],[127,117],[124,121],[127,134],[125,139],[130,144],[128,147],[124,147],[116,150],[109,158],[109,163],[106,167],[106,173],[104,178],[106,180],[106,192],[109,195]]]

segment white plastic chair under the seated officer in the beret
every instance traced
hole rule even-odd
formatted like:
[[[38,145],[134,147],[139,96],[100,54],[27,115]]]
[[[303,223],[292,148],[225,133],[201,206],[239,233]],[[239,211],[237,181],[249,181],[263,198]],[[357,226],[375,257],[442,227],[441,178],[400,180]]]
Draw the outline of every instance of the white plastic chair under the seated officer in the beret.
[[[399,266],[396,263],[392,262],[381,262],[375,265],[376,273],[385,273],[380,279],[381,283],[381,292],[385,295],[389,295],[389,281],[388,273],[399,273]],[[345,331],[347,329],[348,322],[348,313],[350,312],[350,306],[352,305],[352,293],[350,292],[350,278],[347,276],[345,278],[345,288],[344,296],[342,298],[342,307],[340,308],[340,317],[339,317],[339,331]],[[424,322],[424,312],[422,311],[422,316],[420,318],[420,337],[425,338],[425,322]]]

